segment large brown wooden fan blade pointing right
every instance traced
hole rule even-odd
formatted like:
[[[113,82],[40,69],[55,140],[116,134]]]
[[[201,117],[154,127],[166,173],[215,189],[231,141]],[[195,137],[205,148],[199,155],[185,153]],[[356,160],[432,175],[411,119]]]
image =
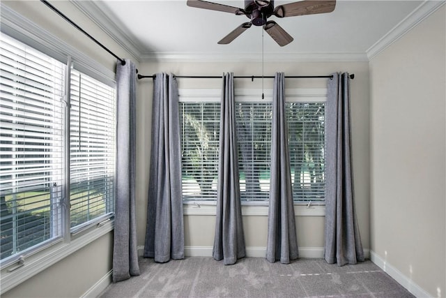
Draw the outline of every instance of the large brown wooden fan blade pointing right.
[[[316,13],[331,13],[336,1],[306,0],[277,6],[274,10],[276,17],[295,17],[296,15],[314,15]]]

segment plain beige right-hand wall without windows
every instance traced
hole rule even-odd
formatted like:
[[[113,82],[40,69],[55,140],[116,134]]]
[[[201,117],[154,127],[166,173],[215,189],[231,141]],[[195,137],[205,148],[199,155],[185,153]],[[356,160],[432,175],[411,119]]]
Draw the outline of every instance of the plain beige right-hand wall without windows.
[[[445,297],[446,6],[370,62],[371,250]]]

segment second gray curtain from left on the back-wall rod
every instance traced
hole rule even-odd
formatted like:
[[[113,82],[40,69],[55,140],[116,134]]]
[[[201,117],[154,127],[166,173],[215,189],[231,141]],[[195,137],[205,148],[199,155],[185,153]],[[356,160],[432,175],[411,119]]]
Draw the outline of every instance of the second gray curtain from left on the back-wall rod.
[[[220,119],[217,217],[213,257],[215,260],[223,260],[224,265],[233,265],[237,259],[245,257],[233,73],[223,75]]]

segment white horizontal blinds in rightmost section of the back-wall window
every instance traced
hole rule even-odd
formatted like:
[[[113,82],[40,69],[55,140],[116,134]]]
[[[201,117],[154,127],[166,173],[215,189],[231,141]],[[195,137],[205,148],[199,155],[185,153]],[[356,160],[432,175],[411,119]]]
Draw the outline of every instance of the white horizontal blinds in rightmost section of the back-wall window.
[[[325,200],[324,107],[324,103],[286,103],[295,202]]]

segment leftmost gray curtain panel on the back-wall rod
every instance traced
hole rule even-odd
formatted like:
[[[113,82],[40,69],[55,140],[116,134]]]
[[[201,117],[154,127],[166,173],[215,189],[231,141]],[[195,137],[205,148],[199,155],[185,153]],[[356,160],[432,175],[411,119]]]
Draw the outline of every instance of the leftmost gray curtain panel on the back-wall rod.
[[[157,73],[153,86],[151,166],[144,257],[155,262],[184,258],[178,86]]]

